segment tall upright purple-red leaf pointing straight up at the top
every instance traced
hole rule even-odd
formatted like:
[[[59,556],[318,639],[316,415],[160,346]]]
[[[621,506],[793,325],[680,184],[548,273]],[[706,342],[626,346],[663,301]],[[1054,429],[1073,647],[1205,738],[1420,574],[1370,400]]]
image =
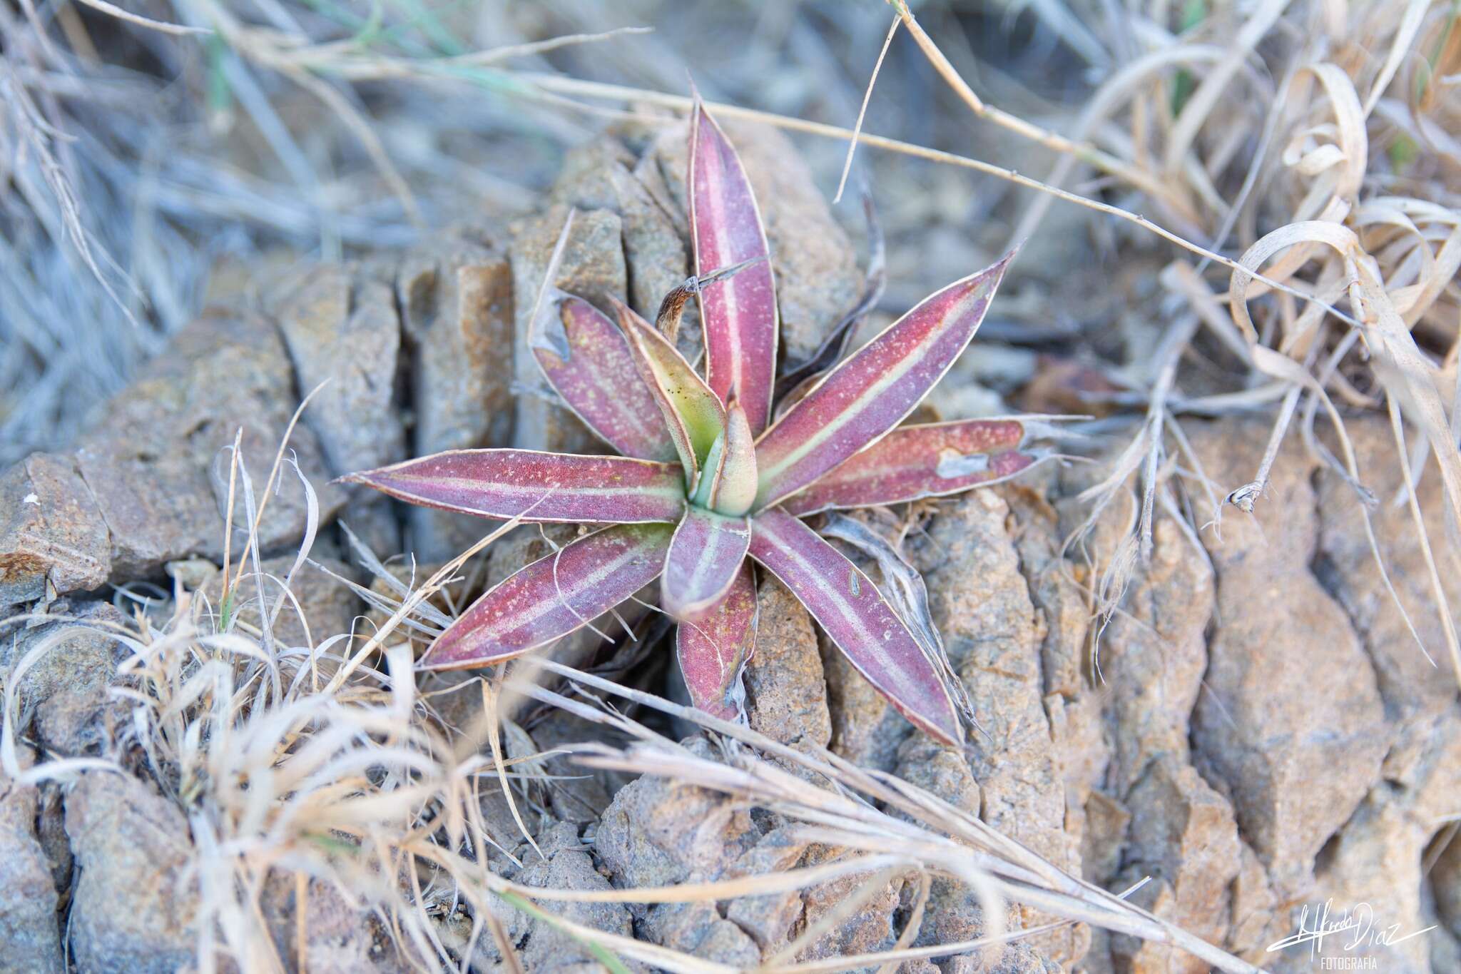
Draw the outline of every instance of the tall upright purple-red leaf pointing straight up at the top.
[[[755,196],[735,147],[697,99],[690,130],[690,237],[695,275],[767,257]],[[735,390],[751,432],[771,415],[776,380],[776,283],[770,261],[752,264],[700,292],[710,388],[725,402]]]

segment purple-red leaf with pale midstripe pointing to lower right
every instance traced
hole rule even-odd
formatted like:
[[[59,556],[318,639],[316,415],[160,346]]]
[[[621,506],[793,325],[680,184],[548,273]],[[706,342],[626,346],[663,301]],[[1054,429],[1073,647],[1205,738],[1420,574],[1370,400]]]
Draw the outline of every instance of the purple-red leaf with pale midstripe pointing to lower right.
[[[939,672],[856,565],[782,510],[752,521],[751,556],[792,590],[821,628],[904,717],[958,745],[958,713]]]

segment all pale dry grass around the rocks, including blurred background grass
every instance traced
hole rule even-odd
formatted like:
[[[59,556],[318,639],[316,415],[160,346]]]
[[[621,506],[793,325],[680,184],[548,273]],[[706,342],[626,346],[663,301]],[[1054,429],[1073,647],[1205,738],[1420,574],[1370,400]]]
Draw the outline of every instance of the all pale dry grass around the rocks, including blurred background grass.
[[[1397,502],[1416,513],[1427,552],[1438,549],[1435,612],[1448,641],[1422,650],[1448,651],[1461,673],[1436,564],[1461,553],[1454,4],[1262,0],[1113,12],[1043,0],[1018,20],[1021,37],[1033,38],[1030,48],[1042,38],[1062,44],[1081,69],[1045,88],[1031,80],[1046,70],[1037,53],[991,63],[979,34],[963,29],[973,15],[958,3],[922,4],[918,19],[871,0],[776,6],[716,4],[681,16],[650,0],[612,12],[488,3],[475,19],[415,3],[329,0],[143,9],[156,22],[210,31],[202,38],[136,18],[108,32],[105,20],[70,6],[0,6],[0,388],[10,390],[0,400],[0,463],[67,442],[86,409],[199,308],[210,275],[219,276],[215,261],[247,266],[278,245],[330,258],[403,244],[449,222],[463,200],[510,213],[530,196],[524,190],[551,178],[555,152],[545,143],[580,140],[606,120],[653,123],[682,110],[684,72],[695,64],[707,95],[735,102],[722,114],[825,137],[805,143],[821,171],[836,172],[847,143],[858,146],[856,165],[871,174],[888,225],[890,305],[906,304],[900,279],[915,296],[938,282],[919,279],[941,276],[937,261],[916,267],[929,239],[969,263],[980,250],[1029,241],[1021,263],[1034,296],[1021,304],[1024,295],[1011,295],[1023,310],[999,339],[1020,349],[1020,326],[1059,323],[1081,312],[1069,310],[1080,298],[1102,296],[1080,288],[1116,289],[1113,270],[1151,269],[1145,292],[1112,295],[1119,310],[1105,330],[1080,333],[1132,390],[1112,418],[1086,426],[1115,457],[1086,494],[1088,526],[1106,510],[1129,511],[1115,551],[1087,552],[1100,580],[1093,612],[1119,610],[1157,510],[1195,537],[1224,504],[1264,504],[1277,447],[1296,428],[1366,507]],[[657,32],[615,32],[625,25]],[[719,51],[726,45],[701,50],[717,29],[739,29],[755,44],[738,48],[738,60],[717,60],[729,57]],[[893,41],[880,55],[884,38]],[[881,73],[869,86],[875,63]],[[165,86],[174,77],[180,83]],[[880,130],[893,134],[872,134]],[[969,188],[976,174],[992,177],[977,197]],[[998,219],[970,231],[983,215]],[[1062,241],[1072,225],[1094,241],[1094,273],[1071,273],[1080,267]],[[1050,280],[1061,276],[1071,277],[1065,289]],[[1113,333],[1125,336],[1116,352]],[[72,394],[77,388],[85,394]],[[1274,422],[1265,461],[1249,483],[1213,483],[1182,422],[1255,410]],[[1363,410],[1392,421],[1404,498],[1365,488],[1369,473],[1344,435],[1346,415]],[[1340,456],[1322,445],[1319,421],[1332,425]],[[269,479],[281,476],[276,466]],[[1420,521],[1414,482],[1423,476],[1445,486],[1443,537],[1427,539]],[[237,520],[257,523],[254,491],[240,483]],[[1083,551],[1086,537],[1077,533],[1072,548]],[[295,610],[288,580],[264,578],[250,543],[238,558],[235,599],[262,600],[264,619]],[[425,599],[450,571],[387,606],[390,621],[368,638],[317,634],[310,647],[282,647],[267,624],[243,632],[237,606],[181,590],[168,618],[137,616],[118,634],[134,654],[124,692],[149,718],[149,771],[188,812],[200,850],[209,920],[200,958],[215,945],[245,967],[272,956],[250,901],[272,869],[335,879],[387,916],[400,949],[425,967],[459,961],[431,923],[457,895],[473,907],[473,939],[495,936],[494,917],[527,908],[529,898],[583,898],[516,888],[485,867],[491,840],[476,796],[503,789],[524,800],[533,762],[522,742],[508,756],[495,724],[447,737],[431,701],[415,692],[408,637],[440,624]],[[717,735],[723,761],[694,759],[587,695],[628,691],[581,673],[554,678],[573,689],[484,683],[482,692],[494,705],[498,694],[524,692],[636,740],[584,761],[672,772],[776,808],[856,850],[824,872],[622,898],[723,900],[840,870],[954,875],[991,898],[1199,949],[904,784],[636,695]],[[18,680],[12,673],[6,688],[0,752],[10,774]],[[823,784],[787,777],[767,755],[817,771]],[[26,774],[83,767],[98,765],[51,762]],[[238,787],[245,780],[259,786]],[[716,970],[652,945],[568,932],[646,964]],[[844,961],[916,955],[928,952]],[[782,970],[833,970],[783,959]]]

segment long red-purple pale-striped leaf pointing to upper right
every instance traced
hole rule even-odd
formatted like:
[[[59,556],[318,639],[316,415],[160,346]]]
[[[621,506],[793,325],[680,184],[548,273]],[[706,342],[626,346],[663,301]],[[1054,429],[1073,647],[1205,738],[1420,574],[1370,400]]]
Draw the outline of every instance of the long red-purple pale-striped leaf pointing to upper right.
[[[1008,264],[1005,257],[926,298],[766,431],[755,448],[757,508],[805,488],[897,426],[969,346]]]

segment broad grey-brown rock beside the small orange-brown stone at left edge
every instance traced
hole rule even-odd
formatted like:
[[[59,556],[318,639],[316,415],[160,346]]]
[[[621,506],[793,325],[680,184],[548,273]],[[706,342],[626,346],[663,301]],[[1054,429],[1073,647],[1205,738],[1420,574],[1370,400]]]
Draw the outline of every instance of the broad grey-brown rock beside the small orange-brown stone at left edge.
[[[229,480],[225,450],[243,429],[243,460],[254,501],[262,504],[297,402],[283,340],[263,318],[210,311],[178,331],[145,375],[98,413],[76,451],[82,479],[111,530],[111,578],[146,577],[188,555],[221,558]],[[308,426],[297,426],[289,450],[316,486],[320,518],[327,521],[343,494],[326,483],[318,438]],[[243,494],[240,483],[234,501],[240,527],[247,524]],[[295,543],[305,514],[304,491],[285,464],[279,492],[264,510],[260,546],[269,552]]]

